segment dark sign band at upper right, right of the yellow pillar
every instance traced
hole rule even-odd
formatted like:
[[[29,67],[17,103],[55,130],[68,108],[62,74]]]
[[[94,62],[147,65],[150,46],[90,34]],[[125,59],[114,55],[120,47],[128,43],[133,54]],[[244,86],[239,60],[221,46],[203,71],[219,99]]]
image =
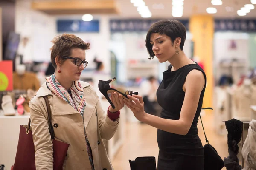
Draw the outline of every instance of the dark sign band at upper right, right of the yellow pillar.
[[[256,20],[219,19],[215,20],[215,31],[256,31]]]

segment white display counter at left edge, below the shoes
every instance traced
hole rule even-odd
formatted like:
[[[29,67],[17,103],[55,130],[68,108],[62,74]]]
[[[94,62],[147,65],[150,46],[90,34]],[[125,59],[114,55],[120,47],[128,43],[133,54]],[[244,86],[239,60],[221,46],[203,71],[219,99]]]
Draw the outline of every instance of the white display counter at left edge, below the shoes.
[[[29,116],[3,116],[0,111],[0,164],[11,170],[14,164],[20,125],[27,125]]]

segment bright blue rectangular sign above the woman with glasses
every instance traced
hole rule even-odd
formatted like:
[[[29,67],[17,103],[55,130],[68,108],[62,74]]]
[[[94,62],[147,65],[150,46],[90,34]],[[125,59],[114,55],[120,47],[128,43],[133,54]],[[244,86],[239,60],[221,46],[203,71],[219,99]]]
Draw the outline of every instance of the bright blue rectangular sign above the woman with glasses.
[[[58,32],[99,32],[99,20],[57,20]]]

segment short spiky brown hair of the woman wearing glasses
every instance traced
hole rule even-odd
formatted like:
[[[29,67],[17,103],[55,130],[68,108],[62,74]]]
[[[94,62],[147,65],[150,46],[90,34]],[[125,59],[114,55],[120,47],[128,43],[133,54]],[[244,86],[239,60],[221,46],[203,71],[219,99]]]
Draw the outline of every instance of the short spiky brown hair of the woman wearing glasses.
[[[64,62],[64,56],[71,55],[71,49],[81,48],[82,50],[87,50],[90,48],[90,43],[84,42],[81,38],[74,34],[62,34],[54,37],[52,40],[51,50],[51,61],[54,68],[57,68],[55,58],[59,57],[61,63]]]

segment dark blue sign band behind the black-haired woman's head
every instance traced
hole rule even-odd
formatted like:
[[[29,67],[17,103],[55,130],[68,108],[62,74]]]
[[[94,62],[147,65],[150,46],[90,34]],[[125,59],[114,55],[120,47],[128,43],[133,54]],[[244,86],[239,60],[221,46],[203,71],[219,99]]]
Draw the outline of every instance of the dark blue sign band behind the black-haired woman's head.
[[[125,20],[110,20],[111,32],[124,31],[148,31],[150,26],[161,19],[143,20],[143,19],[125,19]],[[180,20],[186,29],[189,29],[189,20]]]

